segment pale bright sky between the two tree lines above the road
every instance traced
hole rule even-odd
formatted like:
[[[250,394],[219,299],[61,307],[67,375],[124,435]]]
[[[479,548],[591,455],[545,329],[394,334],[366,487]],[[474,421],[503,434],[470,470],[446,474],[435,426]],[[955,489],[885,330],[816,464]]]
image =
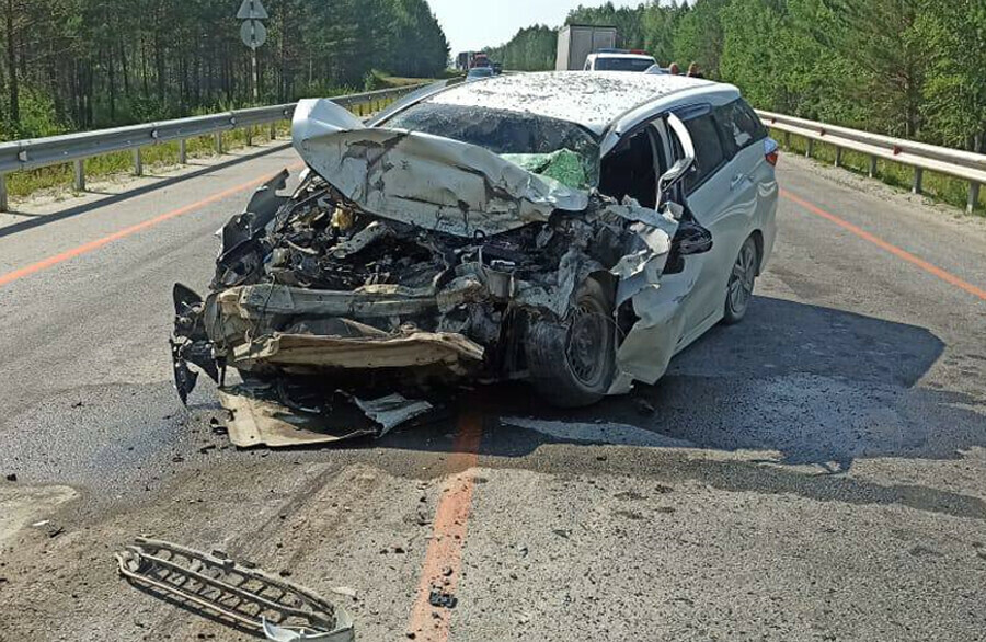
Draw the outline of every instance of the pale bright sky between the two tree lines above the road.
[[[532,24],[561,26],[569,11],[605,0],[428,0],[451,45],[451,55],[502,45],[517,30]],[[641,0],[614,0],[617,7],[635,7]]]

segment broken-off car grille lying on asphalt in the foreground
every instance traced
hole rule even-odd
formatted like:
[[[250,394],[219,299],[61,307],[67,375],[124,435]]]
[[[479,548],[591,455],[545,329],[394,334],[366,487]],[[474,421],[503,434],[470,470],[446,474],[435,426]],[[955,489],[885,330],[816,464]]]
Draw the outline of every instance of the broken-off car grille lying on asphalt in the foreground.
[[[208,554],[137,538],[116,560],[121,575],[152,595],[218,615],[227,623],[263,633],[268,640],[356,639],[345,609],[251,564],[237,563],[221,551]]]

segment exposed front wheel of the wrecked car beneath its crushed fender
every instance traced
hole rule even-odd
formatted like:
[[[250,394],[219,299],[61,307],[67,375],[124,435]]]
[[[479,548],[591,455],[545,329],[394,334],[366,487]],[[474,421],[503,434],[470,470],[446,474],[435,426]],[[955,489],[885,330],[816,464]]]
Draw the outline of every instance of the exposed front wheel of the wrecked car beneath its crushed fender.
[[[569,319],[534,323],[525,344],[531,382],[559,408],[601,400],[616,372],[612,300],[598,282],[586,280]]]

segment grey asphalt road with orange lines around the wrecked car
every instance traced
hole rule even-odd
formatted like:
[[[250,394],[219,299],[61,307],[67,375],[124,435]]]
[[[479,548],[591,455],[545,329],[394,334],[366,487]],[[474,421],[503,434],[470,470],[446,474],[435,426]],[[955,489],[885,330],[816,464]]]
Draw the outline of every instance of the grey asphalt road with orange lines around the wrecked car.
[[[353,588],[359,640],[986,637],[982,218],[782,156],[749,317],[657,386],[237,450],[214,389],[173,393],[170,289],[205,289],[213,232],[297,163],[0,218],[0,640],[249,639],[119,580],[141,534]]]

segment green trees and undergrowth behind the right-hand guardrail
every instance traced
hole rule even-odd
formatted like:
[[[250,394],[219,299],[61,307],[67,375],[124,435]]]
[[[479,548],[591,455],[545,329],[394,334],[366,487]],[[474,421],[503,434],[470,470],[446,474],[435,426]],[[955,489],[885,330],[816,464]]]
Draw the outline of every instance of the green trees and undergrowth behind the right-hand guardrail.
[[[986,153],[982,0],[607,2],[575,9],[566,23],[616,26],[623,47],[663,66],[698,62],[763,110]],[[506,69],[553,69],[557,38],[537,25],[488,51]],[[881,163],[879,175],[910,182],[910,170],[894,163]],[[964,182],[926,173],[925,184],[965,203]]]

